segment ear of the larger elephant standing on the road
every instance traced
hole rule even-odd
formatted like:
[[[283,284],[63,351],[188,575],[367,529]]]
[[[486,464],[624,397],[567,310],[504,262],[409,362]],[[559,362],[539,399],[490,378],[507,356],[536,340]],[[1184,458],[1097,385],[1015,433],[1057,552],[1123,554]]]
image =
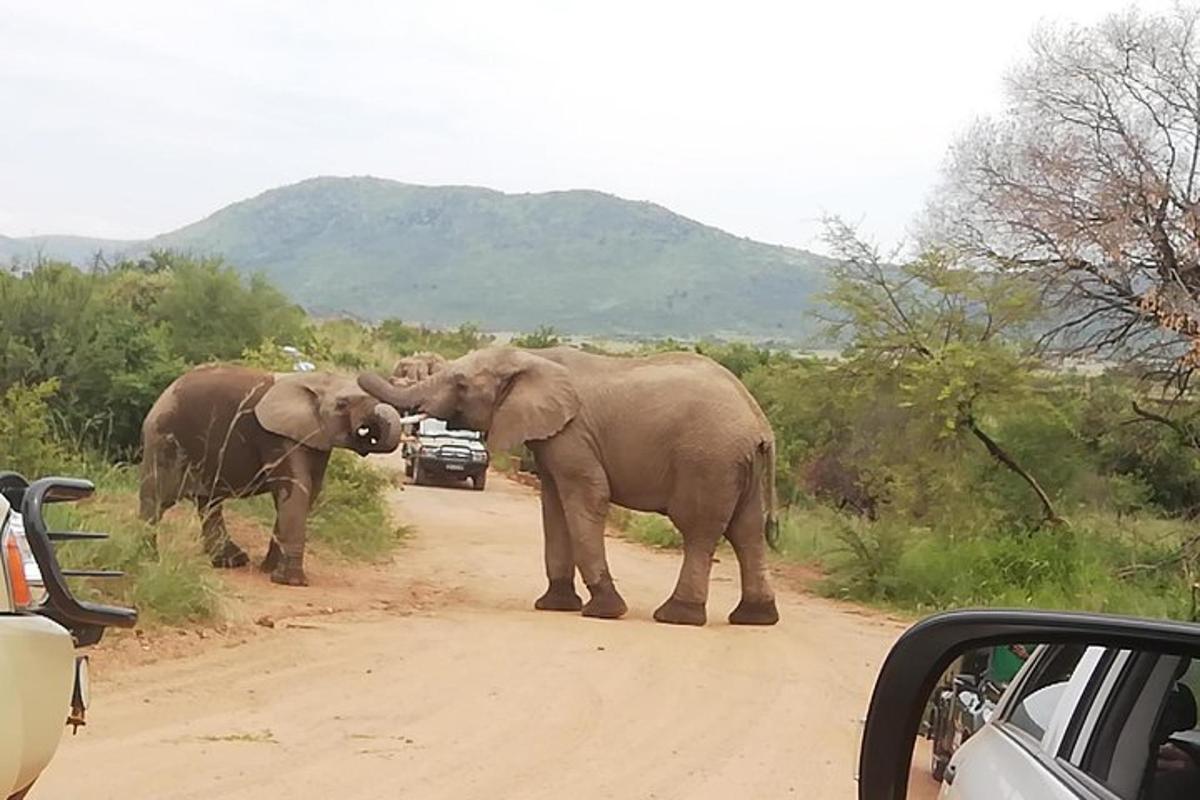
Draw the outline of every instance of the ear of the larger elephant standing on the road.
[[[514,350],[504,379],[487,433],[493,450],[548,439],[580,410],[571,374],[559,363]]]

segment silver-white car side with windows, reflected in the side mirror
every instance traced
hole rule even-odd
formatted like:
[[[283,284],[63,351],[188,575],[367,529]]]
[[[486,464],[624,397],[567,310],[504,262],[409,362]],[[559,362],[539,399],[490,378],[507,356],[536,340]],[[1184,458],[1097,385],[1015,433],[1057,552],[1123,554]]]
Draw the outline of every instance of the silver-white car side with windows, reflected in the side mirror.
[[[992,723],[952,759],[942,796],[1200,796],[1192,686],[1200,687],[1200,668],[1183,656],[1044,648]]]

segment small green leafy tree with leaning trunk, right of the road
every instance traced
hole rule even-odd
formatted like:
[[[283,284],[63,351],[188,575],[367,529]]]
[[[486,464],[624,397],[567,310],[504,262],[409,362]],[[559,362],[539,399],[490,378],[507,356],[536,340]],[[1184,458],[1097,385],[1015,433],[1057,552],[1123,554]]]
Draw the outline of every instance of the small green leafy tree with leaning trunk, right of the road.
[[[970,433],[1028,486],[1045,521],[1060,522],[1037,477],[984,423],[990,403],[1028,391],[1036,365],[1021,339],[1039,313],[1032,287],[941,251],[887,264],[839,219],[827,221],[827,237],[839,258],[828,300],[833,332],[851,338],[847,368],[893,375],[901,407],[931,422],[937,438]]]

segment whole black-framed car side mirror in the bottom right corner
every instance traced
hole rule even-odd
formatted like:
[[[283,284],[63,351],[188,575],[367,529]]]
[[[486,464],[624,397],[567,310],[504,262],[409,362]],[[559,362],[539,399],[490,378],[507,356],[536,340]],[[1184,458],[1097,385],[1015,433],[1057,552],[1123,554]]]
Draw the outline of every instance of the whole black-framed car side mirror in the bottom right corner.
[[[972,658],[979,655],[989,657]],[[988,672],[947,674],[956,663],[986,663]],[[988,684],[1007,684],[998,702],[984,697]],[[1200,625],[1003,609],[937,614],[906,631],[880,669],[858,796],[934,798],[941,783],[953,783],[955,798],[1045,796],[1049,788],[1030,787],[1060,781],[1056,765],[1118,796],[1192,796],[1200,793],[1196,697]],[[1030,757],[1014,760],[1014,747]],[[1016,763],[1048,771],[1009,775]]]

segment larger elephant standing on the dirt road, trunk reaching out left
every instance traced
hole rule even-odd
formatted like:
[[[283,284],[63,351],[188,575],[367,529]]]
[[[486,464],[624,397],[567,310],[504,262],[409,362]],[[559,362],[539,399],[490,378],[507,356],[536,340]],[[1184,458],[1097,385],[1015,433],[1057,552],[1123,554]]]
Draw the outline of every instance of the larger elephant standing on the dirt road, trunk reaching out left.
[[[745,386],[708,357],[588,354],[570,347],[490,347],[408,387],[362,373],[359,385],[402,413],[485,432],[488,447],[524,443],[541,480],[548,588],[534,607],[616,619],[628,607],[605,555],[610,503],[666,515],[683,535],[660,622],[704,625],[713,553],[733,546],[742,600],[730,622],[779,620],[767,578],[774,529],[775,438]],[[578,570],[590,593],[576,593]]]

